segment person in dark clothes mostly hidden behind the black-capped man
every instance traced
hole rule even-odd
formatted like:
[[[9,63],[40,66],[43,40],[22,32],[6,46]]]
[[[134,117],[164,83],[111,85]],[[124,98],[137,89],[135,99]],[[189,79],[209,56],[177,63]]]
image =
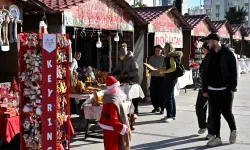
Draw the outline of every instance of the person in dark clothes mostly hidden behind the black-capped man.
[[[202,45],[202,51],[203,54],[206,56],[207,53],[209,53],[209,48],[207,46],[207,43],[205,42]],[[211,116],[208,116],[207,119],[207,104],[208,104],[208,97],[203,96],[202,92],[202,73],[203,73],[203,61],[200,64],[199,67],[199,80],[198,80],[198,85],[199,85],[199,92],[196,100],[196,105],[195,105],[195,110],[196,110],[196,115],[198,119],[198,125],[199,125],[199,134],[204,134],[208,130],[208,134],[206,136],[206,139],[210,140],[212,136],[212,128],[211,128]],[[211,113],[211,111],[209,111]],[[208,122],[207,122],[208,120]]]

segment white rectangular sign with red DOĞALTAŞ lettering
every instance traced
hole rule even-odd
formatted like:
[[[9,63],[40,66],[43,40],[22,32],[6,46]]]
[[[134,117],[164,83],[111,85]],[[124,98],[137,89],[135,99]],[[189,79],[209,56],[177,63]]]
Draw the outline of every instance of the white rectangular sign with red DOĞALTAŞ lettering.
[[[165,46],[165,43],[171,43],[174,48],[183,48],[183,36],[181,30],[174,32],[155,32],[155,45]]]

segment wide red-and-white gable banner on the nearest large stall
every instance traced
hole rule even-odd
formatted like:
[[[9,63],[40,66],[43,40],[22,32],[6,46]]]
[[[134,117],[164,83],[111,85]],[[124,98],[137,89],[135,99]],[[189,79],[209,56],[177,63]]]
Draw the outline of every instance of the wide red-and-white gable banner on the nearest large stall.
[[[91,0],[64,11],[64,25],[134,31],[134,23],[123,10],[107,0]]]

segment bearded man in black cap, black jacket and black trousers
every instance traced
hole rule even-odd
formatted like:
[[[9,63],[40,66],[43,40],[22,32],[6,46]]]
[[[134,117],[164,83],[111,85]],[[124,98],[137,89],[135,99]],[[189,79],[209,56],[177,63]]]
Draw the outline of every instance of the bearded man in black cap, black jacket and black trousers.
[[[208,146],[222,144],[220,138],[220,116],[224,116],[231,129],[229,141],[236,142],[237,128],[232,105],[234,92],[237,91],[237,65],[232,51],[220,44],[217,34],[209,34],[206,38],[211,52],[203,62],[202,90],[203,95],[209,97],[209,107],[212,111],[213,135],[207,143]]]

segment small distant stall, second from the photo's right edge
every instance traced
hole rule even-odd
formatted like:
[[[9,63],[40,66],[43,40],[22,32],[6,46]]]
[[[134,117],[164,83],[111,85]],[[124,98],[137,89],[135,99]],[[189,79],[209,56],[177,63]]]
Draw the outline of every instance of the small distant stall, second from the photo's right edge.
[[[244,37],[247,32],[243,24],[232,24],[233,35],[231,36],[231,45],[235,48],[235,53],[242,56],[244,55]]]

